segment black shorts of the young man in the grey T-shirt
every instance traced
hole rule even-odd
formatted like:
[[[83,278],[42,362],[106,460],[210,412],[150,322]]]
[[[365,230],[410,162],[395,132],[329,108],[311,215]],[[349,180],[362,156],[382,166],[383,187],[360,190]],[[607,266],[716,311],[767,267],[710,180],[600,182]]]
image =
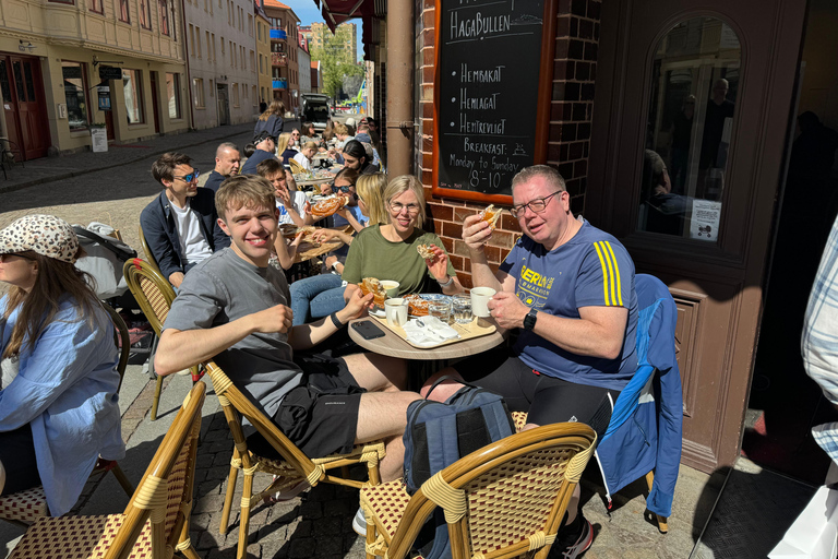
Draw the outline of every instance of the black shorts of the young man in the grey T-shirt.
[[[361,394],[367,392],[352,378],[343,359],[321,354],[296,359],[303,379],[283,399],[274,424],[309,457],[347,453],[355,445]],[[260,435],[248,438],[258,455],[279,454]]]

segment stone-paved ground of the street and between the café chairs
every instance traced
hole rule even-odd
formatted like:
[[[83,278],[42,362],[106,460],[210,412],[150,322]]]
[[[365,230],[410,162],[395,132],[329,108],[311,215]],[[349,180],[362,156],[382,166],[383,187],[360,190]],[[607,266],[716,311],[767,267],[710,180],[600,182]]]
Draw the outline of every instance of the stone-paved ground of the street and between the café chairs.
[[[232,141],[243,146],[251,133],[250,123],[223,127],[157,138],[135,146],[112,146],[106,154],[82,153],[29,162],[25,168],[14,167],[9,180],[0,182],[0,227],[29,213],[51,213],[69,223],[112,223],[121,229],[129,245],[140,249],[140,212],[160,191],[149,174],[158,154],[175,150],[188,153],[206,175],[214,166],[218,143]],[[141,478],[191,384],[188,378],[167,378],[159,418],[152,423],[147,415],[154,382],[144,374],[142,360],[139,358],[136,364],[129,366],[121,392],[122,433],[128,455],[120,463],[134,484]],[[232,558],[238,542],[240,493],[234,501],[229,532],[222,535],[218,531],[232,441],[214,395],[207,397],[203,413],[191,537],[202,557]],[[686,557],[709,515],[717,488],[702,473],[687,467],[682,467],[681,472],[675,510],[669,521],[670,534],[661,536],[644,520],[641,483],[615,497],[614,510],[609,515],[600,497],[603,490],[598,487],[596,468],[589,468],[588,473],[592,475],[590,480],[584,481],[583,502],[586,516],[595,524],[597,537],[586,557]],[[260,487],[267,481],[264,476],[258,476],[255,483]],[[115,478],[106,475],[87,484],[74,512],[113,513],[123,510],[127,503],[128,497]],[[260,504],[253,510],[251,520],[249,556],[256,559],[361,558],[364,556],[363,538],[351,530],[357,508],[357,491],[327,484],[285,503]],[[3,556],[2,545],[21,533],[19,528],[0,523],[0,557]]]

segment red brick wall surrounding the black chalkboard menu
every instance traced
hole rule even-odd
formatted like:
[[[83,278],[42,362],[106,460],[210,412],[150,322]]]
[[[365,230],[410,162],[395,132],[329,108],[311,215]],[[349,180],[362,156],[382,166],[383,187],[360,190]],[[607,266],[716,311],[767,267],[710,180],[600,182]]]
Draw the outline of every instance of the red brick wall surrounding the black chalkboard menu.
[[[597,74],[599,17],[601,0],[558,0],[555,59],[553,66],[553,96],[550,110],[548,164],[558,168],[567,182],[571,207],[580,213],[585,204],[585,181],[590,151],[590,123],[594,116],[594,82]],[[442,238],[451,255],[459,281],[471,287],[471,266],[468,251],[459,240],[463,219],[480,211],[484,204],[475,204],[431,195],[432,134],[433,134],[433,74],[434,74],[434,2],[422,0],[423,28],[417,37],[417,69],[421,122],[421,177],[426,186],[431,224]],[[419,158],[419,154],[417,154]],[[520,229],[516,219],[505,213],[487,255],[492,264],[500,264],[512,248]]]

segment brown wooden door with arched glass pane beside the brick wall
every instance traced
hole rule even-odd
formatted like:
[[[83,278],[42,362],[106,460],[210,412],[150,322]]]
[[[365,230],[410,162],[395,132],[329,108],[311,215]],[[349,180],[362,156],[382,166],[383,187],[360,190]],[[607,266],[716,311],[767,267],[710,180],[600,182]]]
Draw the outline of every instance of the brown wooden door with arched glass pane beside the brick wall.
[[[678,302],[683,462],[706,472],[739,455],[805,4],[602,2],[585,216]]]

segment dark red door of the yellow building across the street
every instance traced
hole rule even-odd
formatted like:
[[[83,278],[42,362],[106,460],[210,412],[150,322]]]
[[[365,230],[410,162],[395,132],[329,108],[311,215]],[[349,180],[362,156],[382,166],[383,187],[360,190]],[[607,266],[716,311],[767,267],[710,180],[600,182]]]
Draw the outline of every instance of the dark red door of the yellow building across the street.
[[[11,93],[11,100],[3,100],[11,106],[5,109],[7,122],[11,110],[17,134],[10,140],[17,142],[26,159],[46,157],[50,140],[40,62],[32,57],[7,57],[5,66]]]

